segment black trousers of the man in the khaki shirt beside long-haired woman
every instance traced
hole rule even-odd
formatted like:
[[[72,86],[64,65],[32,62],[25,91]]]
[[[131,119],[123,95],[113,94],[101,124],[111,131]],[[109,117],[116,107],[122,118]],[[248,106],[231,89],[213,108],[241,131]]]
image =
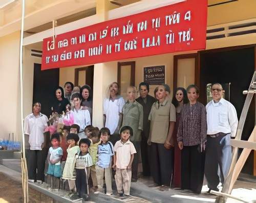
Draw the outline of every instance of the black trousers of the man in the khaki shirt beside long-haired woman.
[[[166,149],[164,144],[151,143],[151,174],[158,185],[170,186],[173,174],[174,149]]]

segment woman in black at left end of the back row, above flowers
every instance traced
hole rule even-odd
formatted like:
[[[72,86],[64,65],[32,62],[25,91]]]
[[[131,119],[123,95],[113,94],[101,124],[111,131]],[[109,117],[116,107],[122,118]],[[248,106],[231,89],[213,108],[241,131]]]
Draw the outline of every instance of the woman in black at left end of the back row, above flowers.
[[[54,93],[55,98],[52,103],[52,111],[62,114],[63,111],[66,111],[66,105],[69,104],[69,100],[64,97],[63,88],[60,86],[55,89]]]

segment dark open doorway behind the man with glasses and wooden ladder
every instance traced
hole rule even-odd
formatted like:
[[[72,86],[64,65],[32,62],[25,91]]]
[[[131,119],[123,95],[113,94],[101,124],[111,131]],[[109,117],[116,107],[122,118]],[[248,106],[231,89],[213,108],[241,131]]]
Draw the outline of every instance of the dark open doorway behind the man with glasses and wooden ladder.
[[[254,47],[207,50],[200,52],[200,101],[206,104],[207,83],[231,83],[230,102],[236,107],[238,119],[244,106],[252,75],[255,70]],[[254,128],[254,97],[248,110],[242,140],[248,140]],[[240,150],[241,151],[241,150]],[[253,151],[248,157],[243,172],[253,173]]]

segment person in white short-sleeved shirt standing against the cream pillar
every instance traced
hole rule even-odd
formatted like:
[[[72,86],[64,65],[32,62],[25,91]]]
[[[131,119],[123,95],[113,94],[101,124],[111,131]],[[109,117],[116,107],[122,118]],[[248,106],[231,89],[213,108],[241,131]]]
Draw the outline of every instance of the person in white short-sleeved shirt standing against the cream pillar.
[[[119,129],[122,123],[122,108],[124,99],[119,94],[119,85],[112,82],[109,86],[109,98],[103,101],[103,125],[110,129],[110,141],[115,145],[119,138]]]

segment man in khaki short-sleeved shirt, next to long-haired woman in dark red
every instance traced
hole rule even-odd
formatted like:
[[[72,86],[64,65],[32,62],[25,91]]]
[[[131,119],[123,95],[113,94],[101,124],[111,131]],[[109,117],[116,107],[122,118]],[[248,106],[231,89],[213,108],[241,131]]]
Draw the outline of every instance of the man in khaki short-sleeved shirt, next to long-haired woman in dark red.
[[[151,145],[151,171],[154,182],[169,186],[173,168],[173,131],[176,122],[176,109],[168,97],[166,85],[157,87],[158,101],[151,108],[148,120],[151,121],[148,145]]]

